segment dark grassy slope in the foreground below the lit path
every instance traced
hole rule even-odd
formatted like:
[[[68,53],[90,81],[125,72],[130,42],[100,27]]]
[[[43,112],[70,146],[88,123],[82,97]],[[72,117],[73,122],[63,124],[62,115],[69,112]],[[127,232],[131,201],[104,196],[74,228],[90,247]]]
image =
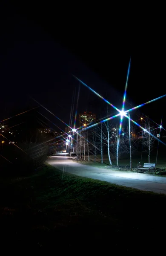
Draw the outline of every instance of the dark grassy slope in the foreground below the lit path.
[[[61,171],[46,166],[0,180],[0,214],[4,247],[126,252],[161,242],[166,196],[68,173],[62,180]]]

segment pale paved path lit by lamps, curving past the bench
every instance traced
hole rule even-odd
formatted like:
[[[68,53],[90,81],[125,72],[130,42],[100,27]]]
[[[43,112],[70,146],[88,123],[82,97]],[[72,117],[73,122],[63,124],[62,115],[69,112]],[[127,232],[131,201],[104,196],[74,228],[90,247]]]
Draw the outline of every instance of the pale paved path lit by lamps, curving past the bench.
[[[96,168],[69,160],[67,157],[49,157],[47,162],[61,171],[64,169],[65,172],[78,176],[104,180],[120,186],[166,194],[166,177]]]

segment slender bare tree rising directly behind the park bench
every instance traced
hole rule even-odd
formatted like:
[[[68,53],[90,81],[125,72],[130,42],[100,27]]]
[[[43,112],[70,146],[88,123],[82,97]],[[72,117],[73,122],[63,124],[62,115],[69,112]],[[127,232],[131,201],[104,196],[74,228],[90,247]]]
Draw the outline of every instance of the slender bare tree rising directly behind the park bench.
[[[144,136],[143,136],[143,146],[148,149],[148,163],[150,163],[150,152],[153,150],[153,146],[155,143],[155,132],[150,119],[147,119]]]

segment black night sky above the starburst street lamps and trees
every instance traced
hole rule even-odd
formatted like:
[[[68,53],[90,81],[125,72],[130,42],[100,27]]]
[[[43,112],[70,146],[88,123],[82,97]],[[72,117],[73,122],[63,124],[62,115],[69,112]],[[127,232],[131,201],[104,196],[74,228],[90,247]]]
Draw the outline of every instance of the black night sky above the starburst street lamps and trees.
[[[49,4],[1,5],[1,119],[37,106],[31,95],[68,123],[72,95],[76,90],[77,96],[79,88],[72,74],[121,108],[130,57],[127,102],[140,105],[166,93],[161,26],[156,29],[149,22],[131,29],[131,20],[128,26],[115,21],[112,25],[104,15],[106,7],[85,18],[74,16],[74,11],[66,15]],[[155,122],[163,116],[166,122],[165,101],[160,99],[140,111]],[[81,85],[78,111],[100,112],[101,108],[102,100]]]

